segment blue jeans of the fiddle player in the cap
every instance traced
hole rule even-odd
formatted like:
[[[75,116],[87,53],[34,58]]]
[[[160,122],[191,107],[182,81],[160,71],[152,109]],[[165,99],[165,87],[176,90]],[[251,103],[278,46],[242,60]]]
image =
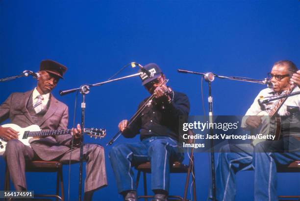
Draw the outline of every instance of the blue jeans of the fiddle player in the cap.
[[[178,152],[177,142],[165,136],[149,137],[137,143],[123,143],[114,146],[109,159],[117,180],[118,193],[136,190],[132,166],[151,162],[151,189],[169,192],[170,162],[183,160]]]

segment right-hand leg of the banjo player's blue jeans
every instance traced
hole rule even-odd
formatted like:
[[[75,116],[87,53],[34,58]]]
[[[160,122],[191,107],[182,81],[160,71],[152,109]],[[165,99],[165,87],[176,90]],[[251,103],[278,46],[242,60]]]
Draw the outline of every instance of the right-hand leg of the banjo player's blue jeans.
[[[283,141],[284,144],[282,140],[265,141],[255,146],[253,157],[255,201],[278,201],[276,166],[288,165],[300,159],[300,141],[294,137],[284,137]],[[278,152],[270,152],[273,150],[278,150]]]

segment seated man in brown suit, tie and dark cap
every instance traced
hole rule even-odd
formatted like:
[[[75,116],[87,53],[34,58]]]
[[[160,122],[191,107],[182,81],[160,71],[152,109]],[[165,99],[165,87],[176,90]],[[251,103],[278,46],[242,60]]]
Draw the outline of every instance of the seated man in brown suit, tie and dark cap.
[[[63,78],[67,68],[57,62],[41,62],[37,87],[24,93],[12,93],[0,105],[0,122],[10,119],[12,124],[27,127],[38,125],[42,130],[67,129],[68,107],[56,100],[50,93]],[[80,126],[73,129],[75,149],[72,161],[79,161]],[[0,126],[0,137],[8,140],[4,157],[16,190],[26,190],[25,162],[42,159],[58,160],[67,163],[70,160],[72,135],[55,135],[32,141],[30,146],[18,140],[18,132],[12,128]],[[77,145],[77,146],[76,146]],[[85,144],[83,158],[86,160],[86,179],[84,200],[91,200],[94,191],[107,185],[104,149],[100,145]]]

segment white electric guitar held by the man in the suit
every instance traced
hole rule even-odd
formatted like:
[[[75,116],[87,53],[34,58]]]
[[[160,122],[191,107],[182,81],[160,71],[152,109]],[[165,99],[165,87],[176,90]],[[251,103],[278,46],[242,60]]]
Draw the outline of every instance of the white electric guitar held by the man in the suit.
[[[71,129],[66,130],[46,130],[42,131],[38,125],[31,125],[26,128],[21,128],[16,124],[4,124],[2,125],[4,128],[12,128],[15,131],[18,131],[19,140],[30,147],[30,142],[34,140],[40,139],[40,137],[50,136],[50,135],[61,135],[61,134],[71,134]],[[94,129],[94,128],[85,128],[83,129],[83,133],[90,135],[91,137],[103,138],[106,135],[105,129]],[[30,142],[29,142],[30,140]],[[0,156],[2,156],[5,152],[7,141],[0,138]]]

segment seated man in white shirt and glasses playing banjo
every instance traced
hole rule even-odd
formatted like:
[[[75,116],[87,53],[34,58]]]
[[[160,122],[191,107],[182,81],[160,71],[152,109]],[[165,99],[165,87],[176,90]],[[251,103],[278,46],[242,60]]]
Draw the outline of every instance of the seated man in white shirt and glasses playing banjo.
[[[273,89],[263,89],[254,99],[242,120],[247,130],[262,126],[263,116],[281,116],[281,138],[252,144],[229,144],[220,150],[216,169],[218,201],[235,200],[235,178],[238,171],[255,169],[254,200],[277,201],[276,165],[288,165],[300,159],[300,95],[259,104],[258,99],[300,91],[300,70],[288,60],[278,61],[269,73]],[[265,112],[265,114],[263,114]],[[289,143],[286,143],[286,142]],[[255,167],[255,168],[254,168]]]

